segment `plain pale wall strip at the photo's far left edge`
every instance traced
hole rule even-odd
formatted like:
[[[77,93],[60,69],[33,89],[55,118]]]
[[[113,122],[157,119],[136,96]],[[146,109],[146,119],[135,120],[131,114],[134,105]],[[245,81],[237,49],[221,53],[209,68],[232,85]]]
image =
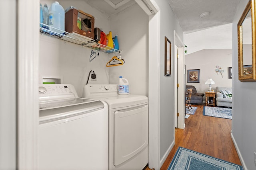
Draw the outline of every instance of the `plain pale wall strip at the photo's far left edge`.
[[[16,0],[0,1],[3,23],[12,26],[0,32],[0,169],[16,169]],[[8,17],[6,17],[8,16]]]

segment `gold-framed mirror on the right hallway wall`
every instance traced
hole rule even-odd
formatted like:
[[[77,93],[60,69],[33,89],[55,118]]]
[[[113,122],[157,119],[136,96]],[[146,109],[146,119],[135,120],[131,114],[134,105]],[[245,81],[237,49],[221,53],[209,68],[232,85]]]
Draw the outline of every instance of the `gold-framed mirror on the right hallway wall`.
[[[238,79],[256,81],[255,0],[249,0],[238,21]]]

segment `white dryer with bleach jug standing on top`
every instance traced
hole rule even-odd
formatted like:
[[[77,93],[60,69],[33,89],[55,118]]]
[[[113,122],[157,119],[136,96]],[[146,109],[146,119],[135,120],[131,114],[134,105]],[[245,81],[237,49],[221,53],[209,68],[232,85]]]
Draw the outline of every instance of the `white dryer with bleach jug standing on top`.
[[[118,95],[116,84],[88,84],[82,97],[108,104],[109,170],[142,170],[148,163],[148,98]]]

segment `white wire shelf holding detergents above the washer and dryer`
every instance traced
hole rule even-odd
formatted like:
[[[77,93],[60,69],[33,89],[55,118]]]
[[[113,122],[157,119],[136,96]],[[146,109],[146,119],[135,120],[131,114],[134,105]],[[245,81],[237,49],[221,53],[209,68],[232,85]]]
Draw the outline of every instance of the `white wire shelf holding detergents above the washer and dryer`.
[[[66,31],[62,31],[60,29],[51,27],[44,23],[40,23],[40,33],[42,35],[47,35],[50,37],[61,39],[63,41],[68,41],[70,43],[82,45],[84,47],[88,47],[91,49],[100,50],[104,53],[119,53],[119,54],[121,54],[120,50],[113,49],[106,45],[96,43],[95,41],[90,40],[89,38],[84,38],[85,36],[83,36],[83,35],[79,35],[77,33],[68,33]]]

